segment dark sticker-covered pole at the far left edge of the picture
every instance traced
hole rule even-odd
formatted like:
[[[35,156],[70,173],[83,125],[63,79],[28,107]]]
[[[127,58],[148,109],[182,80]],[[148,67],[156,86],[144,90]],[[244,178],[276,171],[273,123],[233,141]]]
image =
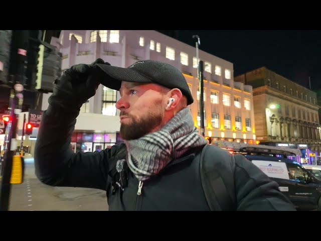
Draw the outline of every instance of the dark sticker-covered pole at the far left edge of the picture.
[[[13,158],[17,150],[17,127],[18,116],[22,112],[23,90],[25,84],[25,70],[27,63],[27,49],[29,41],[28,30],[13,31],[11,41],[11,63],[9,69],[10,83],[12,89],[10,92],[10,102],[8,112],[10,113],[10,122],[6,129],[5,138],[5,159],[3,163],[3,178],[0,189],[0,211],[9,210],[9,200],[11,192],[11,174]]]

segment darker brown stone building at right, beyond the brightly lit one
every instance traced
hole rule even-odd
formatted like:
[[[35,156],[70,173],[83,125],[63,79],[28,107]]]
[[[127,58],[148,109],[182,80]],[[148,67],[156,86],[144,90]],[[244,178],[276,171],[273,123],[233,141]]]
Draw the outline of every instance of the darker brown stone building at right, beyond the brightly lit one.
[[[321,151],[316,93],[265,67],[234,80],[253,86],[257,140],[298,148],[302,163],[315,163]]]

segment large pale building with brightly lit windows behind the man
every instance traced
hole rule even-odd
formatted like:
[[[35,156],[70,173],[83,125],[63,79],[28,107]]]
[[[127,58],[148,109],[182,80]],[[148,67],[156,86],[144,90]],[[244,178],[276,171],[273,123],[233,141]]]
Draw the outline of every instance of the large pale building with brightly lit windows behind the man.
[[[174,65],[182,71],[191,89],[194,103],[190,108],[195,126],[200,127],[196,47],[153,30],[62,30],[60,37],[53,37],[50,44],[62,53],[62,72],[74,64],[92,63],[97,58],[119,67],[144,59]],[[205,136],[211,140],[253,143],[252,86],[233,81],[233,63],[202,50],[198,52],[205,66]],[[43,93],[39,100],[42,110],[47,109],[50,94]],[[75,152],[101,150],[122,141],[115,108],[118,94],[100,85],[96,95],[83,104],[72,137],[71,148]],[[37,129],[33,136],[37,137]]]

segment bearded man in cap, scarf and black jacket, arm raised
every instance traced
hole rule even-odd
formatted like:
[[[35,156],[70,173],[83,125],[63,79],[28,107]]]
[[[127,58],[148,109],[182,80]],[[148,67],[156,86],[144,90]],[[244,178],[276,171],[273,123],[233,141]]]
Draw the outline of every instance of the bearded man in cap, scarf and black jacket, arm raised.
[[[73,153],[68,146],[76,117],[100,83],[120,92],[124,144]],[[194,127],[191,103],[184,76],[167,63],[145,60],[120,68],[97,59],[72,66],[56,81],[43,113],[36,175],[48,185],[106,190],[109,210],[209,210],[199,164],[207,141]],[[231,210],[295,210],[244,157],[236,160],[234,182]]]

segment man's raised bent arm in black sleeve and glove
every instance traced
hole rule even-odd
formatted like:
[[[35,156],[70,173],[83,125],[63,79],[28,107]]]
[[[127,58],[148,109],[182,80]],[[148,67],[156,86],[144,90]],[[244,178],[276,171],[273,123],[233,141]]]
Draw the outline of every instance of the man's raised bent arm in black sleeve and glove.
[[[109,150],[75,154],[69,149],[80,107],[95,94],[102,77],[95,63],[105,62],[74,65],[56,80],[34,155],[36,176],[45,184],[105,189]]]

